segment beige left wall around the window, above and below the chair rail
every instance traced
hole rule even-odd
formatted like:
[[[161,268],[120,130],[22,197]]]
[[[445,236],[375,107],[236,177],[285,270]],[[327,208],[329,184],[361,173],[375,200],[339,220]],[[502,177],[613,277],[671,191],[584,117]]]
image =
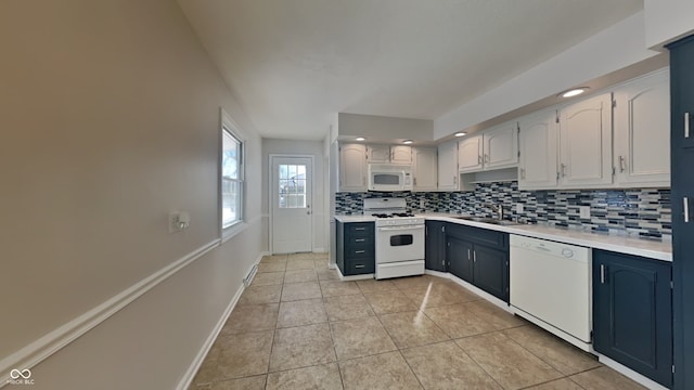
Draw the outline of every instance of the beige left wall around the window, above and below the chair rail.
[[[220,106],[248,136],[254,223],[34,375],[172,388],[267,248],[260,138],[175,1],[4,0],[0,48],[0,361],[218,238]]]

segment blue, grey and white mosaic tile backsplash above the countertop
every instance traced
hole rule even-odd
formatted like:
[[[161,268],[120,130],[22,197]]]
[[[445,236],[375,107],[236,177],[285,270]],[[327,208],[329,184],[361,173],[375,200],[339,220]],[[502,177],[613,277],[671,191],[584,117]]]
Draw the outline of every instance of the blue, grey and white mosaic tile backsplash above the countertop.
[[[627,233],[670,239],[670,190],[520,191],[518,183],[477,184],[474,192],[337,193],[335,213],[361,214],[364,198],[404,197],[412,212],[458,212],[493,217],[487,204],[502,204],[506,218],[522,222]],[[523,204],[523,212],[516,212]],[[590,206],[590,219],[579,218],[579,206]],[[617,231],[617,232],[615,232]]]

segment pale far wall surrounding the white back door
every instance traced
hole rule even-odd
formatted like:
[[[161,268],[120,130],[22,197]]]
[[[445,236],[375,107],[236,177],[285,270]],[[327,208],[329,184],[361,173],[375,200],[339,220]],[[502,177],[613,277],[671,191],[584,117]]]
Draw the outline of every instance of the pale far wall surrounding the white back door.
[[[268,177],[270,169],[270,155],[303,155],[313,156],[313,251],[327,251],[327,236],[325,227],[327,226],[327,216],[325,214],[326,194],[324,183],[327,180],[327,167],[324,162],[323,142],[322,141],[296,141],[296,140],[277,140],[262,139],[262,210],[265,214],[270,214],[270,178]],[[268,239],[271,239],[268,237]],[[271,245],[270,245],[271,246]]]

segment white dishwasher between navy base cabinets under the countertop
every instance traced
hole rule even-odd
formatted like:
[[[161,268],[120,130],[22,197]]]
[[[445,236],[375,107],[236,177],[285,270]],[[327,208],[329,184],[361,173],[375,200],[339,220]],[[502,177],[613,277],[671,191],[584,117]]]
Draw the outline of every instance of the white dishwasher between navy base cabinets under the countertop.
[[[590,248],[511,235],[511,308],[591,351]]]

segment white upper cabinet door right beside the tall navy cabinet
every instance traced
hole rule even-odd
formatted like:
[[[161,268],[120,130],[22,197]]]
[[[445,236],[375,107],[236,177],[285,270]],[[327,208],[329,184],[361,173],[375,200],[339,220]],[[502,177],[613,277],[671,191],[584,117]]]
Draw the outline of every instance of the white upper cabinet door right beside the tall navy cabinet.
[[[619,87],[615,102],[617,183],[620,187],[669,186],[669,72]]]

